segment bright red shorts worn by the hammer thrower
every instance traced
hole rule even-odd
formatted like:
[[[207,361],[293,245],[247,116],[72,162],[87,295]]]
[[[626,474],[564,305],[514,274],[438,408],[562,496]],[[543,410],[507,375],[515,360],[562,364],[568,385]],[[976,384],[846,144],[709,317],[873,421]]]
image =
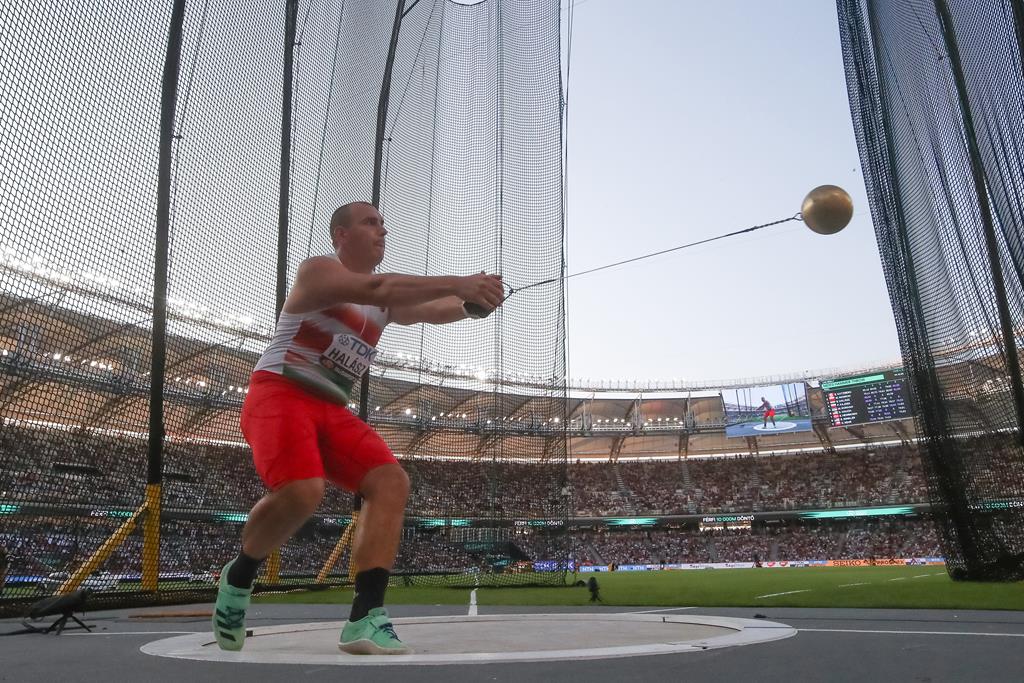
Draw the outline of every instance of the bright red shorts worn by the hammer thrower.
[[[249,383],[242,433],[271,490],[319,477],[354,493],[367,472],[398,462],[373,427],[347,408],[262,370]]]

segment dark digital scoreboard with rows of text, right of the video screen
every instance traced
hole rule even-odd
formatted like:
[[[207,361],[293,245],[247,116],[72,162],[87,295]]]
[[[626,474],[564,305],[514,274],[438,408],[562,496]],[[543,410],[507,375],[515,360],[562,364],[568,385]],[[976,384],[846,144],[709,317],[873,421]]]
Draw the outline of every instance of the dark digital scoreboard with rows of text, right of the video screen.
[[[903,369],[821,382],[833,427],[910,417]]]

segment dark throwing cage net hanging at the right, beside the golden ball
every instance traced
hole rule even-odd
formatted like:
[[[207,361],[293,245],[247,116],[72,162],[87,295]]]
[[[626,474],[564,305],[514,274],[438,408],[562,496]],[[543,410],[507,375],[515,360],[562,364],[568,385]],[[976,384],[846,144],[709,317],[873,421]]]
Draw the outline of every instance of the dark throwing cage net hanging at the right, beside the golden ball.
[[[946,564],[954,579],[1024,579],[1024,5],[839,12]]]

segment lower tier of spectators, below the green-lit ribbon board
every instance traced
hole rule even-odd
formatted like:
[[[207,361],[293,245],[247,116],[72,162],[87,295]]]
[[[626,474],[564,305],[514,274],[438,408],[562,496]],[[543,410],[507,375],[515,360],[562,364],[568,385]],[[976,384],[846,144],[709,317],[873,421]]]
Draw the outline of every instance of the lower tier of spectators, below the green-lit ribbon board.
[[[70,572],[114,531],[113,519],[33,518],[0,532],[0,546],[10,563],[10,577],[47,577]],[[210,577],[237,551],[239,527],[210,522],[165,520],[161,526],[162,575],[181,580]],[[282,548],[283,575],[313,577],[324,566],[342,529],[307,529]],[[699,531],[695,528],[580,531],[571,539],[581,564],[675,564],[701,562],[768,562],[821,559],[878,559],[940,556],[938,538],[928,520],[854,525]],[[564,536],[516,536],[500,545],[516,560],[565,557]],[[471,552],[473,544],[439,533],[406,535],[395,571],[399,573],[466,571],[485,568],[488,553]],[[514,547],[514,548],[513,548]],[[141,573],[142,537],[130,535],[100,567],[137,579]],[[336,562],[334,575],[347,569],[348,553]]]

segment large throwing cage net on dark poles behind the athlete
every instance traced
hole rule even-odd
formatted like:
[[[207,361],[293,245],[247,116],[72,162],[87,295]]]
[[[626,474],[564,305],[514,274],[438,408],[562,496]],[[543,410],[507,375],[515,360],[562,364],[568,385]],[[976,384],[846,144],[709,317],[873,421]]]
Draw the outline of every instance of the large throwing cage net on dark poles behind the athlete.
[[[559,49],[558,2],[0,7],[0,612],[212,594],[265,493],[249,374],[339,205],[377,197],[385,272],[562,274]],[[563,312],[386,330],[407,583],[564,581]],[[352,522],[331,490],[258,589],[346,582]]]

